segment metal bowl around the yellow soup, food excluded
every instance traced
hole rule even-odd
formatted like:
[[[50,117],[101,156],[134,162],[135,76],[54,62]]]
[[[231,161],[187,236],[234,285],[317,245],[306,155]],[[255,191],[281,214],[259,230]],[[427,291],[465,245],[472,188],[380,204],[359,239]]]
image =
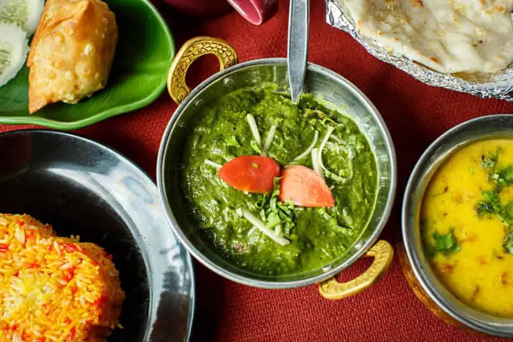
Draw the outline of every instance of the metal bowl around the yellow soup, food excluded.
[[[474,310],[450,293],[434,274],[423,251],[419,212],[423,194],[437,168],[455,150],[483,139],[513,138],[513,115],[479,117],[457,125],[441,135],[422,154],[410,176],[403,200],[403,240],[412,271],[421,289],[432,300],[434,312],[441,308],[448,317],[472,330],[513,337],[513,319],[502,319]],[[428,304],[429,305],[429,304]],[[452,322],[449,322],[452,323]]]

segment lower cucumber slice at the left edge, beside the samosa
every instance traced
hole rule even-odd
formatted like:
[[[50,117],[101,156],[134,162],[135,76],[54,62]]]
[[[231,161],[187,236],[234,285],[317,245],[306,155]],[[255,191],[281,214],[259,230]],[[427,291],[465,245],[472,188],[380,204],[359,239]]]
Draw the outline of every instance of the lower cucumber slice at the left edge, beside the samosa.
[[[0,87],[14,78],[25,64],[28,39],[15,23],[0,24]]]

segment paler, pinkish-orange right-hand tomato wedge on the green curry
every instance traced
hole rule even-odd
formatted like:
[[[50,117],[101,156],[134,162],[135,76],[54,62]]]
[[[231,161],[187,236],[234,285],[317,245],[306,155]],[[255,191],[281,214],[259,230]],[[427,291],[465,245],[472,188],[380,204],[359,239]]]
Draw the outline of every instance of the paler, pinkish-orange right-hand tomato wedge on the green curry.
[[[283,171],[279,199],[292,201],[302,207],[332,207],[333,194],[325,181],[314,170],[302,165],[291,165]]]

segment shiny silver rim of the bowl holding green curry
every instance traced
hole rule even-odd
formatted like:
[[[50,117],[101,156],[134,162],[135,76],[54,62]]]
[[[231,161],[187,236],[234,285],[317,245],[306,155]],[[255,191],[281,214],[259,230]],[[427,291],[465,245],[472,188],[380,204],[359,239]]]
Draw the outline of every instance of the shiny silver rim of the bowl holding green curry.
[[[252,59],[250,61],[245,61],[243,63],[238,63],[234,66],[231,66],[230,68],[226,68],[225,70],[221,70],[220,72],[217,72],[216,74],[213,74],[208,79],[205,79],[205,81],[201,82],[199,86],[194,88],[190,94],[179,104],[177,110],[175,110],[174,114],[172,114],[172,117],[170,121],[168,122],[168,125],[165,128],[165,131],[163,133],[162,139],[161,139],[161,145],[159,147],[159,154],[157,159],[157,187],[159,188],[159,194],[161,199],[161,205],[163,206],[163,209],[165,211],[165,215],[168,218],[168,223],[171,225],[171,227],[174,230],[174,234],[178,237],[178,239],[181,241],[181,243],[187,248],[187,250],[192,254],[192,256],[197,259],[200,263],[205,265],[206,268],[211,270],[212,272],[215,272],[219,274],[220,276],[225,277],[226,279],[230,279],[231,281],[235,281],[237,283],[241,283],[243,285],[248,285],[256,288],[267,288],[267,289],[286,289],[286,288],[299,288],[301,286],[311,285],[313,283],[318,283],[319,281],[323,281],[325,279],[328,279],[335,274],[341,272],[342,270],[345,270],[345,268],[348,268],[350,265],[352,265],[356,260],[358,260],[367,250],[370,249],[370,247],[377,241],[379,238],[379,235],[383,231],[383,228],[385,227],[385,224],[387,223],[390,214],[392,212],[392,206],[394,203],[395,198],[395,192],[396,192],[396,179],[397,179],[397,171],[396,171],[396,154],[394,149],[394,144],[392,142],[392,137],[390,137],[390,132],[388,131],[387,126],[385,125],[385,121],[383,120],[383,117],[381,117],[381,114],[379,114],[379,111],[376,109],[374,104],[368,99],[368,97],[361,92],[356,86],[354,86],[348,79],[345,79],[341,75],[337,74],[336,72],[333,72],[332,70],[329,70],[328,68],[324,68],[322,66],[319,66],[314,63],[308,62],[308,70],[312,70],[313,72],[318,72],[321,74],[325,74],[325,76],[328,76],[332,79],[336,79],[338,83],[345,86],[345,88],[348,88],[354,94],[356,98],[361,101],[365,105],[365,107],[368,108],[369,112],[372,114],[374,119],[377,121],[377,125],[379,126],[379,129],[381,133],[383,134],[383,139],[386,142],[386,150],[387,154],[390,155],[390,190],[388,192],[388,198],[385,205],[385,211],[383,214],[381,214],[381,219],[379,220],[379,223],[376,225],[376,228],[374,228],[374,232],[372,232],[370,239],[362,245],[362,247],[359,249],[358,252],[354,253],[349,259],[345,260],[340,265],[337,265],[336,267],[332,268],[328,272],[325,272],[323,274],[319,274],[317,276],[311,276],[310,278],[296,280],[296,281],[264,281],[264,280],[257,280],[252,279],[248,276],[241,276],[239,274],[236,274],[234,272],[225,270],[225,268],[221,268],[212,261],[208,257],[206,257],[203,253],[201,253],[197,248],[194,246],[193,243],[191,243],[186,237],[185,234],[183,234],[181,228],[179,227],[178,223],[174,220],[174,216],[168,206],[167,201],[167,194],[165,192],[165,184],[163,183],[164,179],[164,165],[163,165],[163,159],[165,157],[165,152],[168,150],[168,141],[170,139],[170,134],[172,131],[172,128],[174,127],[174,124],[178,121],[179,117],[181,117],[181,114],[183,114],[183,110],[187,105],[189,105],[190,101],[197,97],[198,94],[200,94],[205,88],[210,86],[210,83],[217,81],[219,79],[222,79],[225,76],[228,76],[228,74],[232,72],[236,72],[237,70],[241,70],[243,68],[250,68],[255,66],[265,66],[269,64],[277,64],[277,65],[286,65],[287,61],[285,58],[264,58],[264,59]]]

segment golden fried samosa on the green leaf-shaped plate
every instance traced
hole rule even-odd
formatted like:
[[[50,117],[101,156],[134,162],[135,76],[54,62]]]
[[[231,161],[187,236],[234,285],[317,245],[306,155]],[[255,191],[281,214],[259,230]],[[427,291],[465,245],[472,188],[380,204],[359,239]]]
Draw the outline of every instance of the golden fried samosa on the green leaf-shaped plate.
[[[118,29],[99,0],[47,0],[32,39],[27,66],[28,108],[77,103],[105,88]]]

